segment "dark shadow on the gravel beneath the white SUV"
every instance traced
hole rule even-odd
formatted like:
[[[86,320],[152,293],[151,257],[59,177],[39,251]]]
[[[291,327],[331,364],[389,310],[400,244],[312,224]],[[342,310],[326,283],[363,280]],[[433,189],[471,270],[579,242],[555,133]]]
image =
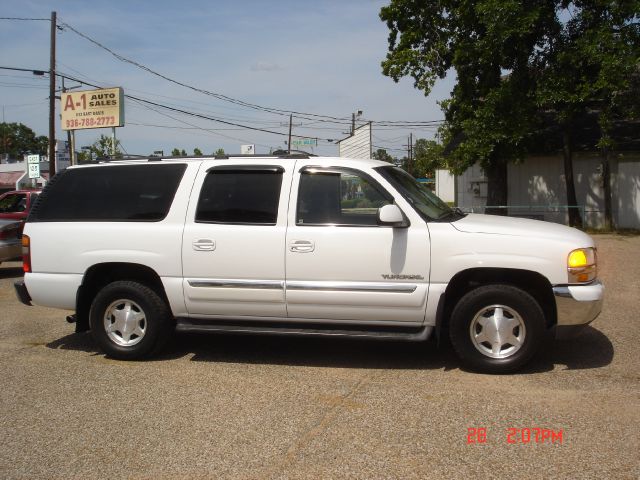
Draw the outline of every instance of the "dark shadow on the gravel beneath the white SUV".
[[[47,344],[51,349],[102,355],[88,332],[66,335]],[[152,361],[190,357],[194,362],[244,363],[326,368],[396,370],[461,369],[449,342],[426,343],[367,341],[351,338],[295,338],[259,335],[181,333]],[[563,365],[565,370],[586,370],[609,365],[614,348],[599,330],[587,327],[579,337],[549,341],[519,375],[543,373]]]

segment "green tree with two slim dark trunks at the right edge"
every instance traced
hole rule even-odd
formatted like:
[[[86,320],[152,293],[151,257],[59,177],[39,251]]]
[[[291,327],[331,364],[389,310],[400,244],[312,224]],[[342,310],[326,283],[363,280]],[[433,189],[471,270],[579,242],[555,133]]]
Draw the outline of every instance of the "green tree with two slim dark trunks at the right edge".
[[[570,2],[571,13],[538,57],[537,100],[552,112],[563,137],[567,201],[577,207],[573,181],[573,143],[577,120],[598,112],[602,151],[605,225],[613,225],[609,155],[615,146],[614,120],[638,115],[640,64],[640,1]],[[634,84],[635,82],[635,84]],[[569,211],[571,225],[582,226],[577,208]]]

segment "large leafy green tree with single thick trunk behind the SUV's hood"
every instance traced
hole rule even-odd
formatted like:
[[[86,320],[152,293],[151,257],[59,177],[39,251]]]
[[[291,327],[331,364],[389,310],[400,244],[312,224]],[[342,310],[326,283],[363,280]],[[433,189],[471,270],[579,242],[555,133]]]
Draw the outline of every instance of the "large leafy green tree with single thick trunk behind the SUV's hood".
[[[390,29],[385,75],[395,81],[409,75],[428,95],[437,79],[455,70],[451,98],[441,104],[441,135],[452,170],[476,162],[483,167],[488,205],[506,204],[507,163],[522,158],[532,130],[532,80],[523,66],[553,14],[553,4],[542,0],[526,7],[514,0],[392,0],[380,12]]]

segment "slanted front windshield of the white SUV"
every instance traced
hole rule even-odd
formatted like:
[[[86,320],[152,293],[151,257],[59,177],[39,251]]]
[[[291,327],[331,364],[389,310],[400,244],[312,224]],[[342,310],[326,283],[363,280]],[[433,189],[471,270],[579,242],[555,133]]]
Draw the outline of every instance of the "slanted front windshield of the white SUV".
[[[426,185],[417,182],[401,168],[378,167],[376,171],[391,183],[425,220],[451,220],[451,217],[457,216],[455,211]]]

